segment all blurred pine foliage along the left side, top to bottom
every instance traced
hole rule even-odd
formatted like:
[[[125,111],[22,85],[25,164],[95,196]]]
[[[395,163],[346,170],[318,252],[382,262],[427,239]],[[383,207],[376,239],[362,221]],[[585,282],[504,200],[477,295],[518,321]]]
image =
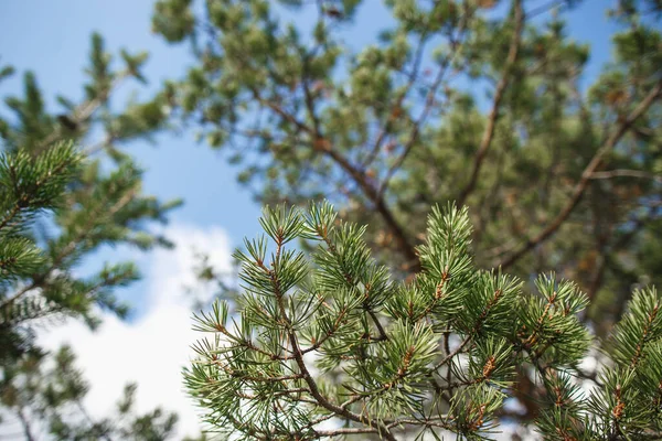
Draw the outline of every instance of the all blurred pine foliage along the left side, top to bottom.
[[[122,52],[121,58],[122,68],[115,69],[102,37],[94,35],[85,98],[75,105],[58,97],[60,114],[46,109],[31,73],[24,76],[23,96],[6,98],[10,112],[0,117],[3,433],[18,422],[28,440],[162,440],[177,421],[160,409],[135,415],[135,386],[127,386],[117,417],[94,421],[83,406],[88,386],[74,367],[72,351],[49,354],[35,342],[38,326],[64,318],[94,329],[102,311],[126,316],[128,305],[118,302],[114,290],[138,279],[132,262],[106,263],[81,276],[81,266],[103,246],[170,246],[148,227],[166,222],[180,202],[143,194],[141,170],[118,149],[162,128],[166,106],[131,103],[113,111],[114,90],[130,78],[142,80],[147,57]],[[0,76],[11,73],[4,68]],[[100,141],[90,143],[96,137]]]

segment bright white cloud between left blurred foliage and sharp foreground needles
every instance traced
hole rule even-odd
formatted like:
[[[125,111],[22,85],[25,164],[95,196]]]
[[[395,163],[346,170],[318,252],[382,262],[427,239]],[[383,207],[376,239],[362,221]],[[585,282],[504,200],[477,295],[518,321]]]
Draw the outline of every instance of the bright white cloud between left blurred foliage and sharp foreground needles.
[[[231,247],[220,228],[175,225],[166,234],[177,248],[151,255],[142,316],[128,323],[107,315],[94,333],[78,322],[70,322],[49,330],[40,342],[53,349],[64,343],[74,348],[78,366],[92,385],[85,404],[93,416],[110,413],[124,385],[136,381],[138,411],[156,406],[177,411],[178,434],[194,435],[201,424],[183,390],[181,369],[192,355],[190,345],[201,335],[191,331],[191,298],[185,287],[195,284],[192,269],[196,252],[207,254],[214,268],[228,270]]]

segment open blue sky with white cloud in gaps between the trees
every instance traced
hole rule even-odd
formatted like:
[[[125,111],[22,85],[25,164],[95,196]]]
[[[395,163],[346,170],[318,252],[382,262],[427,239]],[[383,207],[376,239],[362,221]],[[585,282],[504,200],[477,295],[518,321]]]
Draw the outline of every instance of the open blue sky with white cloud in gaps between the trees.
[[[528,0],[526,8],[547,2]],[[615,28],[605,17],[607,3],[611,1],[585,0],[568,21],[570,35],[591,44],[588,83],[610,54],[609,36]],[[34,71],[52,106],[57,93],[79,99],[89,35],[97,31],[106,39],[111,53],[122,46],[150,52],[145,71],[150,84],[141,89],[132,84],[120,94],[120,98],[126,98],[131,90],[139,90],[140,96],[147,97],[164,78],[180,77],[192,61],[186,44],[169,46],[150,32],[152,4],[151,0],[0,0],[0,65],[11,64],[19,73]],[[364,1],[356,19],[359,25],[346,35],[353,49],[360,50],[369,43],[387,18],[380,4],[380,0]],[[21,75],[0,83],[0,96],[20,93]],[[74,344],[87,377],[95,385],[87,404],[96,415],[103,415],[104,407],[115,399],[111,397],[114,390],[120,389],[117,381],[135,379],[139,383],[141,406],[168,402],[170,408],[183,415],[184,427],[191,430],[196,419],[177,386],[179,369],[185,363],[186,345],[192,342],[188,333],[190,312],[178,300],[166,297],[177,297],[181,291],[180,279],[192,280],[186,273],[192,261],[186,246],[215,254],[214,261],[226,268],[229,248],[241,244],[242,237],[259,233],[259,207],[248,191],[236,183],[237,170],[228,166],[220,152],[196,144],[193,133],[179,137],[163,133],[157,138],[157,144],[137,141],[127,146],[127,150],[147,169],[146,193],[163,200],[184,198],[185,205],[172,216],[170,230],[185,244],[184,248],[170,254],[158,251],[139,259],[146,279],[121,293],[137,308],[131,323],[108,318],[107,324],[94,335],[71,324],[50,333],[46,345]],[[100,254],[89,265],[100,265],[108,256]],[[130,345],[127,341],[135,343]],[[113,359],[109,355],[113,351],[120,351],[118,364],[110,367],[105,362],[99,364],[99,361]],[[150,368],[151,359],[173,352],[177,354],[161,364],[159,373]],[[120,366],[121,357],[129,356],[132,358],[131,366],[138,368]],[[109,368],[114,373],[109,373]],[[161,374],[162,378],[159,377]],[[169,389],[163,385],[175,386]],[[140,390],[145,390],[143,395]]]

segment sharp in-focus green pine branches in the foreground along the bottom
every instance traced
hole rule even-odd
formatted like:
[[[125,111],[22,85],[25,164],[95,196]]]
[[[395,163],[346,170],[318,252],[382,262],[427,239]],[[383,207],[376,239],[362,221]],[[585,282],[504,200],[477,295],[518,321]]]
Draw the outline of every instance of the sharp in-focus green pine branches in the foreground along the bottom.
[[[466,208],[435,207],[409,282],[328,203],[265,208],[237,251],[243,292],[196,315],[186,386],[228,439],[490,439],[528,372],[548,440],[662,437],[662,295],[636,290],[587,387],[589,299],[554,273],[531,291],[469,251]],[[311,245],[311,254],[296,240]],[[595,374],[595,373],[594,373]],[[412,431],[415,430],[415,432]],[[409,438],[413,439],[413,438]]]

